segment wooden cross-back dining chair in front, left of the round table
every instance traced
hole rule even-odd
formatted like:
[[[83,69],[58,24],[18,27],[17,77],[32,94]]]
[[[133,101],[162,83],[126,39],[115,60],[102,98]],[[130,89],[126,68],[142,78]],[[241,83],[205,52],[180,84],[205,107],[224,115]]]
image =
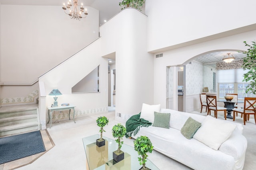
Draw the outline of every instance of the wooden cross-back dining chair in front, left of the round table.
[[[208,114],[211,115],[211,111],[213,110],[214,111],[214,117],[216,117],[216,119],[217,119],[218,111],[224,111],[225,120],[227,119],[227,108],[217,106],[216,96],[206,95],[206,102],[207,102],[207,107],[208,107],[207,115]]]

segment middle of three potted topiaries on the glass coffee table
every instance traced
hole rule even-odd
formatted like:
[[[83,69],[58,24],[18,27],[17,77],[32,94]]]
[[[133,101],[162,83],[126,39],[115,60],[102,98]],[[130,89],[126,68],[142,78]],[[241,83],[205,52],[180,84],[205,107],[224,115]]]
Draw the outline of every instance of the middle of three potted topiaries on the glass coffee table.
[[[117,125],[114,125],[112,128],[112,135],[116,139],[116,143],[118,143],[118,149],[113,152],[113,159],[116,162],[119,162],[124,159],[124,152],[121,150],[122,144],[124,141],[121,141],[126,134],[126,128],[118,123]]]

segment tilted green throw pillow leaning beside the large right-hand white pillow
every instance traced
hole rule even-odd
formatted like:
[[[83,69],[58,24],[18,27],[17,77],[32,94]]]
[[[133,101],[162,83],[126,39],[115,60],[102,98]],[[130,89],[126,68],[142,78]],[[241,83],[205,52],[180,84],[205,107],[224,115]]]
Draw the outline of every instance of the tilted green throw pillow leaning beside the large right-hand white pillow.
[[[187,139],[192,139],[192,137],[194,136],[194,134],[196,133],[200,126],[200,122],[192,119],[191,117],[188,117],[180,132]]]

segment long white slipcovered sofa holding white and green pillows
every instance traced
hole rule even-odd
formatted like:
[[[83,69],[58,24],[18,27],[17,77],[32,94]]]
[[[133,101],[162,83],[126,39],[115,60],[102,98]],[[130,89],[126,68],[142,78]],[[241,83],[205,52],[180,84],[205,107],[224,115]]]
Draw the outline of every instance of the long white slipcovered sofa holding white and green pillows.
[[[247,140],[242,135],[241,124],[234,123],[236,127],[230,137],[220,145],[218,150],[214,150],[194,138],[186,139],[180,132],[188,117],[202,123],[206,116],[171,109],[161,109],[160,113],[170,113],[169,129],[154,126],[140,127],[138,133],[132,137],[136,139],[139,136],[147,136],[152,142],[154,150],[195,170],[242,170]],[[148,115],[148,117],[150,116],[152,117],[152,115]],[[218,121],[223,121],[224,124],[228,122],[220,119]],[[211,132],[209,131],[209,133]]]

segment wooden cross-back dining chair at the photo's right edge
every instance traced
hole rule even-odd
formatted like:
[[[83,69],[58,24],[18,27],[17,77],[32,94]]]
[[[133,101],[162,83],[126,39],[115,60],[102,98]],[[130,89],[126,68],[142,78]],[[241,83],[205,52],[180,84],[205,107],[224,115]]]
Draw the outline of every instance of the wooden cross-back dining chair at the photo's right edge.
[[[233,121],[235,121],[235,114],[241,113],[244,115],[244,125],[247,120],[249,120],[250,115],[254,115],[254,120],[256,124],[256,98],[244,98],[244,108],[234,108],[233,109]]]

